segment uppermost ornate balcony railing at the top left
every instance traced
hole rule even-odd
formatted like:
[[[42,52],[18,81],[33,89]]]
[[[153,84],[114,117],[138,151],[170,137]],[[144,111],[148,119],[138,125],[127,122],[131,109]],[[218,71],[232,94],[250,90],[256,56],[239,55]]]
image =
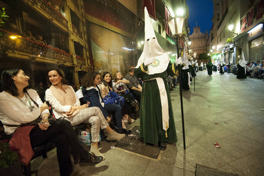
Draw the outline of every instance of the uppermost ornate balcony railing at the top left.
[[[56,21],[58,21],[62,26],[68,29],[68,21],[62,14],[60,14],[56,9],[54,9],[50,4],[48,4],[45,0],[23,0],[29,5],[36,5],[38,8],[40,8],[42,11],[47,13],[49,16],[54,18]]]

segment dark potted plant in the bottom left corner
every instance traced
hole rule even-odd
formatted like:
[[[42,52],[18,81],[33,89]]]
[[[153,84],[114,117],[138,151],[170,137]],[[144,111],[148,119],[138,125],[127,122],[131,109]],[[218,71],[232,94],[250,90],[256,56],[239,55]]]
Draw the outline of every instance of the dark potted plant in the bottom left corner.
[[[6,139],[0,142],[0,175],[23,175],[18,149],[11,147]]]

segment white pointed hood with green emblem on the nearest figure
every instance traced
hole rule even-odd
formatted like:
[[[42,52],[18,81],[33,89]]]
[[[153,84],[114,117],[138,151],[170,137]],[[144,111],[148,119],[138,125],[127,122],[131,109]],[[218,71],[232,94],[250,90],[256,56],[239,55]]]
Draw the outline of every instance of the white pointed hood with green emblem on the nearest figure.
[[[170,62],[170,57],[159,45],[157,37],[155,35],[153,26],[150,22],[148,10],[145,7],[145,44],[143,52],[138,59],[138,65],[135,68],[140,67],[143,62],[149,57],[155,57],[156,61],[148,65],[148,75],[155,73],[162,73],[167,70],[167,66]]]

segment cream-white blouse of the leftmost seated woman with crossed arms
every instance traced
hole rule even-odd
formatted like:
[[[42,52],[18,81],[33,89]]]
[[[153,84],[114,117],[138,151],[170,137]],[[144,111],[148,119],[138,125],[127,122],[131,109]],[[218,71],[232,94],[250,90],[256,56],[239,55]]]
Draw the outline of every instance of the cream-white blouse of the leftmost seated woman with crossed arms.
[[[38,106],[42,106],[43,102],[41,101],[38,93],[33,89],[27,89],[30,97],[38,104]],[[28,95],[27,95],[28,97]],[[50,114],[48,109],[45,109],[40,114],[40,108],[38,108],[33,101],[24,95],[21,100],[30,106],[28,100],[33,106],[33,111],[30,111],[29,107],[22,103],[17,97],[10,95],[9,93],[3,91],[0,93],[0,119],[3,124],[9,125],[20,125],[22,123],[28,123],[38,118],[38,116],[42,116],[43,114]],[[5,133],[12,134],[17,127],[9,127],[4,125]]]

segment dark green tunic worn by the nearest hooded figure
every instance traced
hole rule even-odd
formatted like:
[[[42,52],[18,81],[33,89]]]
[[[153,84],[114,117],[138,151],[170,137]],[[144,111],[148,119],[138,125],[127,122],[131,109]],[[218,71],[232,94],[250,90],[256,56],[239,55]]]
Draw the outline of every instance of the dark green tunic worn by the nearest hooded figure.
[[[145,67],[143,63],[141,67],[134,70],[134,73],[137,77],[141,78],[141,80],[147,80],[156,77],[163,78],[169,105],[169,128],[167,129],[166,138],[165,130],[163,130],[162,125],[160,91],[156,79],[145,81],[142,87],[140,103],[140,136],[144,138],[144,142],[151,144],[157,144],[158,141],[169,141],[176,143],[177,134],[173,118],[170,92],[165,78],[168,75],[175,75],[176,71],[178,71],[178,68],[175,67],[175,64],[171,64],[171,62],[169,62],[167,70],[162,73],[148,75],[146,73],[147,70],[148,67]]]

